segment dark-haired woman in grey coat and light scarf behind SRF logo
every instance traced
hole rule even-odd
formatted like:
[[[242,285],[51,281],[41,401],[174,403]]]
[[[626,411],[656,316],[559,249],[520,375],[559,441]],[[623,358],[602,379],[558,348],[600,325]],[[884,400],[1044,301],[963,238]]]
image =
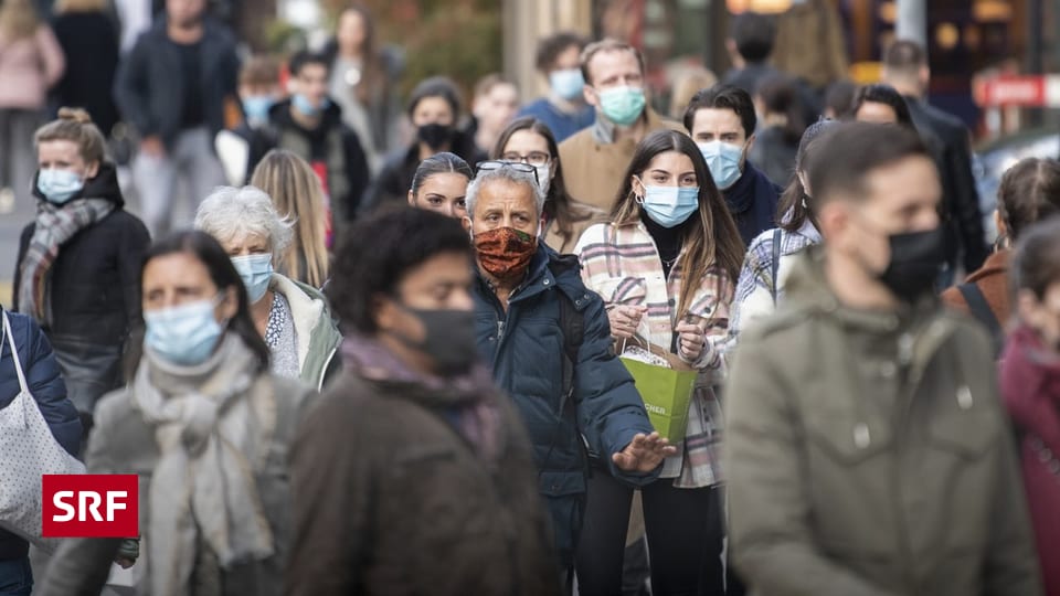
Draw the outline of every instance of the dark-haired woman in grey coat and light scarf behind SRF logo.
[[[34,594],[99,594],[120,556],[140,570],[144,594],[279,595],[286,454],[316,392],[268,372],[247,292],[213,237],[169,236],[140,274],[146,334],[127,385],[99,402],[85,466],[139,476],[141,549],[66,540]]]

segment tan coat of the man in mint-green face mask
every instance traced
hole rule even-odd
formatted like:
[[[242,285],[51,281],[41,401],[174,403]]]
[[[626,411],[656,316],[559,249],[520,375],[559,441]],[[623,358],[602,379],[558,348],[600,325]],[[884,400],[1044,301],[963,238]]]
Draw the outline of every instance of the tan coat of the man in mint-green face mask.
[[[667,128],[682,130],[680,125],[664,120],[650,108],[646,113],[648,115],[647,132]],[[583,128],[560,143],[563,181],[566,183],[566,191],[575,200],[611,213],[618,191],[622,190],[622,179],[626,175],[626,168],[633,159],[637,141],[626,138],[618,142],[602,143],[594,137],[594,126]]]

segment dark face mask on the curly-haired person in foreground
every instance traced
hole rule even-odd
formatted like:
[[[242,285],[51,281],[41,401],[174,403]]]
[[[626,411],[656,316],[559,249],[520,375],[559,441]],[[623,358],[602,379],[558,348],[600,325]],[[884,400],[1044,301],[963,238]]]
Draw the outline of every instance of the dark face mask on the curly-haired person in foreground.
[[[390,333],[399,341],[422,352],[434,362],[442,376],[459,376],[471,370],[478,353],[475,348],[475,313],[470,310],[422,310],[395,302],[399,308],[420,319],[426,330],[422,342]]]

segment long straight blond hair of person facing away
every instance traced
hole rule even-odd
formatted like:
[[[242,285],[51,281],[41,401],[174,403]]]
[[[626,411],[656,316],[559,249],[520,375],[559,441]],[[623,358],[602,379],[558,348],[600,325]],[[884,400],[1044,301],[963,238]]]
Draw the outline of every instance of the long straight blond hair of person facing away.
[[[330,212],[320,180],[306,160],[283,149],[265,153],[251,185],[273,199],[280,219],[294,233],[287,249],[276,254],[276,273],[294,281],[324,287],[330,270]]]

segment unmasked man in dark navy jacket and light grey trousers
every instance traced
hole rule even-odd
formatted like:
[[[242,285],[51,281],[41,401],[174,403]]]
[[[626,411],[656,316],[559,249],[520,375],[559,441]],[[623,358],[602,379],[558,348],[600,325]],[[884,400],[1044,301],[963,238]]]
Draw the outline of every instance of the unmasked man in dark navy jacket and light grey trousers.
[[[193,205],[224,182],[213,139],[239,71],[235,40],[206,14],[205,0],[166,0],[165,18],[123,60],[114,96],[140,135],[132,179],[153,234],[172,223],[178,180]]]

